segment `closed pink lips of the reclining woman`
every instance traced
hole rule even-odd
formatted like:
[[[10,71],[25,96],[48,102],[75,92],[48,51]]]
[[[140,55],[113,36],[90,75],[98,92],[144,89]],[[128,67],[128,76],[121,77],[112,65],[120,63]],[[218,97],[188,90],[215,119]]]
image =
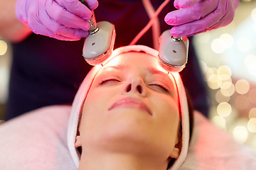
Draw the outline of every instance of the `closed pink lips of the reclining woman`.
[[[149,115],[152,115],[148,106],[146,106],[143,101],[139,100],[139,98],[122,98],[119,101],[116,101],[110,108],[111,111],[113,108],[124,107],[124,108],[139,108],[141,110],[146,111]]]

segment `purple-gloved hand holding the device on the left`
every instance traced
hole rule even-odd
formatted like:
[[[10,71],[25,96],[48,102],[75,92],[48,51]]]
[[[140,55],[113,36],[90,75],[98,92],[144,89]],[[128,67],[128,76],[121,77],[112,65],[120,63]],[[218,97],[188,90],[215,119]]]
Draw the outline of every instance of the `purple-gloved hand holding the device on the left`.
[[[80,40],[87,37],[92,16],[90,9],[98,6],[97,0],[17,0],[16,17],[33,33],[58,40]]]

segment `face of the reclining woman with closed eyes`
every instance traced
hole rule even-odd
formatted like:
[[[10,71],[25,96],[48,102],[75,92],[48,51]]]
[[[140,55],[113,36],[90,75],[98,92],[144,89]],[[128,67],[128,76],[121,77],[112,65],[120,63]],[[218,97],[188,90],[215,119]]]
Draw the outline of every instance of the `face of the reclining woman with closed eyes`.
[[[157,60],[127,52],[96,75],[80,120],[82,152],[154,154],[178,157],[178,95],[174,81],[159,70]]]

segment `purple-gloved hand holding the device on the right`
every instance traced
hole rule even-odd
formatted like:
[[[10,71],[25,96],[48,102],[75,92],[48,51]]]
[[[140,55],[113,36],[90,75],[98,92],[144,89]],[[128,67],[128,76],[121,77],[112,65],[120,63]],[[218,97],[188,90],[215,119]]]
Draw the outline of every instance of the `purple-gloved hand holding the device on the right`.
[[[164,18],[176,37],[191,36],[223,26],[233,21],[238,0],[175,0],[179,10],[167,13]]]

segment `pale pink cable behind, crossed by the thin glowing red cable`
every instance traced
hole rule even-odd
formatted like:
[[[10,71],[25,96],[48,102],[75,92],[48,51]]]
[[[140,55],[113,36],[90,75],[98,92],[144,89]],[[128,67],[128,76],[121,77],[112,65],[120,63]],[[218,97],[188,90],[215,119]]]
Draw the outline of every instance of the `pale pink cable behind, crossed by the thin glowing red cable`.
[[[148,14],[149,18],[154,17],[154,7],[152,6],[150,0],[142,0],[142,4],[144,5],[144,8],[146,9],[146,13]],[[160,23],[159,18],[156,17],[154,19],[154,23],[152,26],[152,38],[153,38],[153,47],[156,50],[159,50],[159,37],[160,37]]]

